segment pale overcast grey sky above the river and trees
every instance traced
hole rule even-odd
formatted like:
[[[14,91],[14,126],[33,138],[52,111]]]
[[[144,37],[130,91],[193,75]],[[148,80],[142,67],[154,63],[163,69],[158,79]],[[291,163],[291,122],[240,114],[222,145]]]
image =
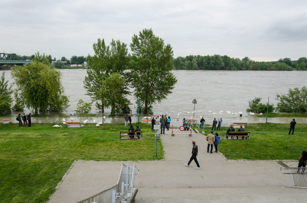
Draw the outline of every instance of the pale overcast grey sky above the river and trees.
[[[307,1],[2,0],[0,52],[56,57],[94,55],[93,43],[129,48],[144,28],[187,55],[307,57]]]

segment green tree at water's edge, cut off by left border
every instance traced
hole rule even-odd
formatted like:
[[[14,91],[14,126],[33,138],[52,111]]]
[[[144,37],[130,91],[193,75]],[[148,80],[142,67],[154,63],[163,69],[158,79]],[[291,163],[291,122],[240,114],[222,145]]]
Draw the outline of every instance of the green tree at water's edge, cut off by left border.
[[[4,80],[4,72],[0,78],[0,114],[6,114],[11,112],[12,105],[12,84],[8,86],[8,81]]]

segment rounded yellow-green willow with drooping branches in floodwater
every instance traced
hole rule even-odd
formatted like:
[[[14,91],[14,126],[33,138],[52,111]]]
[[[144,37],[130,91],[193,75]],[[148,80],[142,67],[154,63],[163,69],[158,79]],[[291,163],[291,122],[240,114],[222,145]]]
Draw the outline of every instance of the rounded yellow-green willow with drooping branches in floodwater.
[[[14,65],[11,71],[20,96],[26,107],[38,111],[63,111],[68,105],[67,96],[61,83],[61,72],[49,65],[48,56],[35,54],[29,65]],[[38,62],[42,61],[42,62]]]

